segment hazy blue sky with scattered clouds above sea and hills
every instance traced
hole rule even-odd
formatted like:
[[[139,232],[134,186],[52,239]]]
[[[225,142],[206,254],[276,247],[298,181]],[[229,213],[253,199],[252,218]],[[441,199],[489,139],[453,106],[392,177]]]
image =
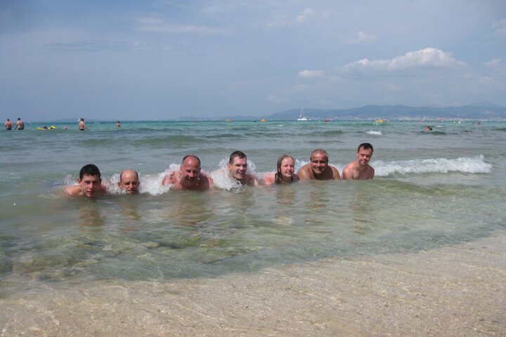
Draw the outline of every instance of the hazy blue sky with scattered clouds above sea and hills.
[[[0,0],[0,117],[506,106],[504,0]]]

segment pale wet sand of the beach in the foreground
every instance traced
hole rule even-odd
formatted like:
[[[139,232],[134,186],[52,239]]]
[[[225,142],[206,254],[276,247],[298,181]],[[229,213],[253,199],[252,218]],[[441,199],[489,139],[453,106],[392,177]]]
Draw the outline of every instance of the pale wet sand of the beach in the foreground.
[[[505,336],[506,234],[167,282],[33,282],[0,336]]]

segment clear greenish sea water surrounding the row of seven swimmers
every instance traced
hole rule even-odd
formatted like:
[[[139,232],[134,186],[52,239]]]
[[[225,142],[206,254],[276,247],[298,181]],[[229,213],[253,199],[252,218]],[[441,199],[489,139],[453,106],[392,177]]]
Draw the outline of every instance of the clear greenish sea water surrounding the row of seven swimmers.
[[[505,122],[138,121],[27,124],[0,132],[0,293],[31,282],[160,281],[252,272],[331,256],[416,252],[470,242],[505,228]],[[68,129],[63,129],[68,126]],[[363,142],[374,180],[302,181],[207,192],[162,187],[186,154],[202,169],[248,156],[260,178],[281,154],[298,169],[316,148],[339,172]],[[117,182],[141,176],[141,193],[69,199],[84,164]]]

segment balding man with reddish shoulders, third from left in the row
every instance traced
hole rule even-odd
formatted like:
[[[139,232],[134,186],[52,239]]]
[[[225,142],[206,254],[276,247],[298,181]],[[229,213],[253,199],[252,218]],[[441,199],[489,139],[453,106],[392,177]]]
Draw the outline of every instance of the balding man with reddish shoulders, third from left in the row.
[[[211,177],[200,172],[200,159],[193,154],[183,157],[179,171],[165,176],[162,185],[174,185],[176,190],[209,190],[213,185]]]

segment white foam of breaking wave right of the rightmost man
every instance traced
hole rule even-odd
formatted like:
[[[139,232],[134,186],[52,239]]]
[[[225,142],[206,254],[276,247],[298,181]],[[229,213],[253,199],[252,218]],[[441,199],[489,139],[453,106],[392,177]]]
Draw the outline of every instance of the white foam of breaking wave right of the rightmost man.
[[[393,173],[490,173],[492,165],[484,161],[484,156],[460,157],[455,159],[413,159],[406,161],[375,161],[375,176],[385,177]]]

